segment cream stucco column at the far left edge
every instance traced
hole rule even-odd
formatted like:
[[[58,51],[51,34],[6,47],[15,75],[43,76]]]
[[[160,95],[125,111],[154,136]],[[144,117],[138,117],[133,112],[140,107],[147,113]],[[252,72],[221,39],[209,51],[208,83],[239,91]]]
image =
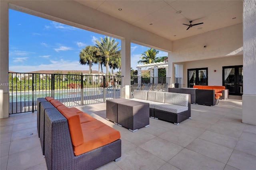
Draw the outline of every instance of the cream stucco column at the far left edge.
[[[0,1],[0,118],[9,117],[9,28],[8,3]]]

